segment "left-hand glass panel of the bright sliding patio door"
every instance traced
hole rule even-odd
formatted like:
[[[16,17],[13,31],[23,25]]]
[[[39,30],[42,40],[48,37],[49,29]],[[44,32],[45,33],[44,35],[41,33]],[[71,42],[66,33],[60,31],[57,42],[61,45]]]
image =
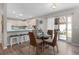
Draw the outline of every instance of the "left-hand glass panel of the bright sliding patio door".
[[[62,16],[59,19],[59,39],[67,39],[67,26],[66,26],[66,17]]]

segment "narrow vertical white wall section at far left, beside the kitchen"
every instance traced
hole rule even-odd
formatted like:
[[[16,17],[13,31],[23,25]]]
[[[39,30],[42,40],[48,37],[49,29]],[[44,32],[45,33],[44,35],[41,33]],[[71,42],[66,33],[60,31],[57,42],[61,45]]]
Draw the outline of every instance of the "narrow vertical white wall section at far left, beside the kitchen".
[[[2,46],[7,48],[7,4],[2,4]]]

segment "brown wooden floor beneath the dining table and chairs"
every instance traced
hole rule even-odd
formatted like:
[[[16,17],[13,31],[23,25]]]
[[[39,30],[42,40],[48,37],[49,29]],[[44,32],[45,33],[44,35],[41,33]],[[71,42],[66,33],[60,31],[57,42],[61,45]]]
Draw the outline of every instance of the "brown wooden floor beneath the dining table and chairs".
[[[58,41],[59,53],[56,55],[79,55],[79,47],[70,45],[63,41]],[[23,43],[19,45],[13,45],[13,47],[8,47],[3,50],[0,45],[0,55],[35,55],[35,51],[33,51],[32,47],[30,48],[29,54],[29,43]],[[53,50],[51,47],[49,49],[45,49],[43,53],[39,52],[39,55],[53,55]]]

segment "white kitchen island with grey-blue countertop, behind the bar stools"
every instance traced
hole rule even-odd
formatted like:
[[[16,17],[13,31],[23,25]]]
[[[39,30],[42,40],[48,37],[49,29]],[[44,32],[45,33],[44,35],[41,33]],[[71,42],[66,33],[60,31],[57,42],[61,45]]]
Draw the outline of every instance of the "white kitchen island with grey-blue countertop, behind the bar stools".
[[[15,36],[15,38],[19,38],[17,39],[18,41],[21,39],[22,42],[24,41],[28,41],[29,40],[29,36],[27,35],[28,32],[31,32],[32,29],[26,29],[26,30],[8,30],[7,31],[7,44],[10,45],[10,40],[12,39],[11,36]],[[23,36],[21,36],[23,35]],[[13,44],[17,43],[16,40]]]

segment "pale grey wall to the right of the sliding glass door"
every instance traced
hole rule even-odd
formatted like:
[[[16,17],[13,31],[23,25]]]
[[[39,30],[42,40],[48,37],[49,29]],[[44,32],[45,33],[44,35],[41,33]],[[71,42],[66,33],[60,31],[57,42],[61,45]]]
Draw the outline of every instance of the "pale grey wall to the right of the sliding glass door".
[[[79,44],[79,9],[72,16],[72,42]]]

